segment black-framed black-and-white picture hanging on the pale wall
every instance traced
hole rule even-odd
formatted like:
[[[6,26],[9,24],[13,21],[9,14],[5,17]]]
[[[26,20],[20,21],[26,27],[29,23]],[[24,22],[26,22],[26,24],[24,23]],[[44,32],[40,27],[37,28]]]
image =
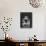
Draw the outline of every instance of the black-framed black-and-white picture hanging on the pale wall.
[[[20,27],[32,28],[32,12],[20,12]]]

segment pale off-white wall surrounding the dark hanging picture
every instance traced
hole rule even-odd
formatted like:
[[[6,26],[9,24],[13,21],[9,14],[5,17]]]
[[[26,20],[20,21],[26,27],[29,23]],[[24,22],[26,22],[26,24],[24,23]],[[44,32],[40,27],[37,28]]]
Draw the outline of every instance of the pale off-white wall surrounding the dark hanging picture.
[[[32,12],[33,25],[31,29],[20,28],[20,12]],[[8,33],[10,37],[17,40],[28,40],[34,34],[37,35],[39,40],[46,39],[45,12],[46,8],[31,7],[28,0],[0,0],[0,17],[13,17],[12,26]],[[0,39],[4,39],[2,32],[0,30]]]

